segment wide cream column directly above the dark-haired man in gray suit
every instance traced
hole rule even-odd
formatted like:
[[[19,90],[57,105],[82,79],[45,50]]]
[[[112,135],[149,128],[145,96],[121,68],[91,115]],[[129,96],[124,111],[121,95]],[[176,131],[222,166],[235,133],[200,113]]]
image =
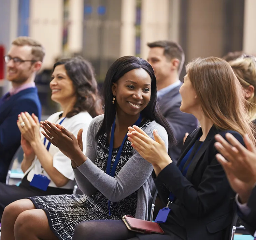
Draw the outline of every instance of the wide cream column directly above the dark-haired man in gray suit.
[[[169,38],[169,0],[142,0],[141,57],[146,59],[148,42]]]

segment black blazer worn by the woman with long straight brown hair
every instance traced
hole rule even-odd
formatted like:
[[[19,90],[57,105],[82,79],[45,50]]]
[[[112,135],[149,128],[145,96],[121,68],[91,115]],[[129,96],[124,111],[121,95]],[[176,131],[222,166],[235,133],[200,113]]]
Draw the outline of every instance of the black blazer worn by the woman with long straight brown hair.
[[[239,133],[220,131],[213,126],[193,158],[186,177],[174,163],[159,173],[155,183],[163,203],[167,204],[170,191],[176,197],[169,205],[169,223],[167,221],[160,224],[163,228],[177,235],[177,230],[172,224],[176,223],[186,232],[188,240],[225,239],[234,212],[235,193],[229,186],[221,164],[215,158],[217,150],[214,147],[214,135],[219,133],[225,138],[227,132],[233,134],[244,145]],[[201,128],[189,134],[177,165],[201,135]]]

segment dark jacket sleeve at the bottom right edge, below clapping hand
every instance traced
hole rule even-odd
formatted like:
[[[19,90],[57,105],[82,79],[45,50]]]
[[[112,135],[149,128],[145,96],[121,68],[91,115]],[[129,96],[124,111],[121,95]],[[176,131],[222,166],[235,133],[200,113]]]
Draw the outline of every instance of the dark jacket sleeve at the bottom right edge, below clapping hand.
[[[251,209],[249,215],[243,215],[238,209],[238,215],[242,220],[246,229],[251,235],[256,231],[256,187],[253,189],[252,194],[248,200],[247,206]]]

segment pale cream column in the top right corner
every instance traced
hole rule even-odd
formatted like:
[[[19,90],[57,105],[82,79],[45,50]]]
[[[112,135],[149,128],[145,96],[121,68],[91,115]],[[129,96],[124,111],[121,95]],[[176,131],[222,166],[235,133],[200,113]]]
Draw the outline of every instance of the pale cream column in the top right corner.
[[[255,9],[255,0],[245,0],[243,51],[248,54],[256,54]]]

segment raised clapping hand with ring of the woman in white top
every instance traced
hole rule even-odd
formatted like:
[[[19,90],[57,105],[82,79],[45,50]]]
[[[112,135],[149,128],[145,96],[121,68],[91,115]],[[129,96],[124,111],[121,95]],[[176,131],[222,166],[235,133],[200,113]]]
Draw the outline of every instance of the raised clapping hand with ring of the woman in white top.
[[[35,141],[41,141],[37,116],[34,114],[30,116],[28,112],[22,112],[18,115],[17,125],[23,137],[30,144]]]

